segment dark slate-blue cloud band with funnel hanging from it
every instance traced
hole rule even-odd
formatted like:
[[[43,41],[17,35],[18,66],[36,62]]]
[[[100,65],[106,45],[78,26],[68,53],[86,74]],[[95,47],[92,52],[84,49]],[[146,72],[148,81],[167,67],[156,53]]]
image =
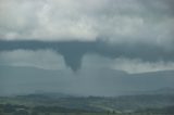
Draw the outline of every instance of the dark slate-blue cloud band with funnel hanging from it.
[[[148,62],[174,61],[174,49],[164,49],[160,46],[147,43],[117,43],[110,46],[103,41],[62,41],[62,42],[44,42],[44,41],[0,41],[0,51],[12,51],[17,49],[40,50],[51,49],[62,54],[65,64],[73,71],[80,68],[82,59],[85,54],[98,54],[101,56],[116,59],[140,59]]]

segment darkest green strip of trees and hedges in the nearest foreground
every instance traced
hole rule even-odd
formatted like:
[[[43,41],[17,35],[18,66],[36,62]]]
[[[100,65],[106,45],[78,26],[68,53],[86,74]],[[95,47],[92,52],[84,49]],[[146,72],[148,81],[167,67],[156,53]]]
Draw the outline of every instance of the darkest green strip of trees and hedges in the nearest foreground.
[[[59,106],[35,106],[0,104],[0,115],[173,115],[174,106],[162,108],[147,108],[135,112],[89,112],[84,110],[72,110]]]

